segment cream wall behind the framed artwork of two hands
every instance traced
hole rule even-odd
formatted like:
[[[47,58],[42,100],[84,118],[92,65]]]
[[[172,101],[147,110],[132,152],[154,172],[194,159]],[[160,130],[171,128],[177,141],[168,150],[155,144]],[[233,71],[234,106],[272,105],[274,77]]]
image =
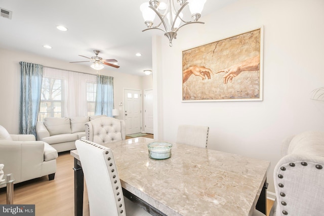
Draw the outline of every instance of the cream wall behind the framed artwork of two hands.
[[[324,106],[309,99],[324,86],[323,20],[321,0],[245,0],[203,16],[204,25],[183,27],[172,48],[165,36],[153,38],[154,136],[172,142],[179,124],[208,125],[208,148],[271,161],[268,192],[274,193],[281,141],[324,129]],[[263,101],[181,102],[182,51],[261,25]]]

